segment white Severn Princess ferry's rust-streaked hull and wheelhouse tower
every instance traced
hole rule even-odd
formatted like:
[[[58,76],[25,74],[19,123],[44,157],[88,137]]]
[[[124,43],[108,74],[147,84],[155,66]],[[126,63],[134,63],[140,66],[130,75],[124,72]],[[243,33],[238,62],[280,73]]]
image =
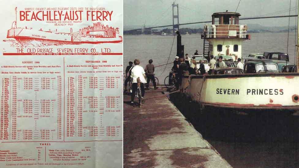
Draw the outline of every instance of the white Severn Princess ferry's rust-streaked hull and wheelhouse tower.
[[[241,45],[247,25],[239,25],[240,13],[214,13],[212,24],[204,26],[202,39],[210,54],[242,58]],[[214,19],[219,18],[219,24]],[[229,23],[230,21],[230,23]],[[207,45],[208,43],[208,45]],[[205,53],[204,53],[205,54]],[[204,55],[206,56],[206,55]],[[199,104],[200,110],[299,111],[299,73],[254,73],[184,76],[180,95]]]

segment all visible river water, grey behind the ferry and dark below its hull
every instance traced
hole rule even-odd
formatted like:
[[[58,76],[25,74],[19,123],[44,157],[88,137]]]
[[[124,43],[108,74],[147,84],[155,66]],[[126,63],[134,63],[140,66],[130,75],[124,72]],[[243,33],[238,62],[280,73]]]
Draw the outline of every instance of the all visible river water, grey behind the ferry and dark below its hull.
[[[173,62],[176,38],[161,35],[124,35],[124,70],[129,61],[138,58],[145,67],[149,59],[155,66]],[[174,39],[173,47],[172,42]],[[288,33],[251,33],[251,40],[242,45],[242,56],[250,53],[287,52]],[[202,53],[203,39],[199,34],[182,35],[185,53]],[[172,48],[172,51],[171,51]],[[171,52],[170,52],[171,51]],[[294,62],[295,33],[289,35],[288,53]],[[155,74],[164,83],[172,65],[157,67]],[[291,86],[294,87],[295,86]],[[297,86],[296,86],[297,87]],[[233,167],[299,167],[299,118],[295,116],[207,116],[209,128],[193,122],[195,128]],[[212,127],[210,123],[215,123]],[[221,124],[222,123],[222,124]],[[217,136],[215,136],[217,135]],[[223,138],[225,137],[225,138]],[[227,138],[229,137],[229,138]]]

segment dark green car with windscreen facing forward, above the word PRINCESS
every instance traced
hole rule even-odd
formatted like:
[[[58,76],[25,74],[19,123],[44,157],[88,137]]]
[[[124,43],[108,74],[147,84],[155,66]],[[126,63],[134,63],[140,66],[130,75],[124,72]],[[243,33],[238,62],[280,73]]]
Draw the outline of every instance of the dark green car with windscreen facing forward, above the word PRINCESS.
[[[271,60],[248,60],[244,65],[244,73],[278,73],[278,64]]]

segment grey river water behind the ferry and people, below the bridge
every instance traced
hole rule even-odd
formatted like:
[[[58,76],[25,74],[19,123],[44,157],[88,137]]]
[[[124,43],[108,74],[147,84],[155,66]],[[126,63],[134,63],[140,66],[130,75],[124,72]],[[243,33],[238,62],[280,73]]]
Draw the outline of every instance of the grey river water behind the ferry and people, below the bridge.
[[[248,56],[250,53],[263,52],[287,52],[288,33],[252,33],[251,40],[245,40],[242,45],[242,56]],[[149,59],[153,59],[155,66],[166,64],[170,54],[169,62],[174,61],[176,56],[176,38],[172,46],[174,36],[167,35],[124,35],[123,38],[123,63],[124,70],[129,61],[138,58],[140,65],[145,68]],[[203,50],[203,39],[200,34],[182,35],[182,45],[184,45],[185,54],[192,55],[195,50],[201,54]],[[171,50],[172,48],[172,50]],[[295,55],[295,33],[289,34],[288,54],[290,63],[294,62]],[[172,65],[157,67],[155,75],[160,84],[164,84],[164,79],[168,76]],[[164,70],[165,69],[165,70]]]

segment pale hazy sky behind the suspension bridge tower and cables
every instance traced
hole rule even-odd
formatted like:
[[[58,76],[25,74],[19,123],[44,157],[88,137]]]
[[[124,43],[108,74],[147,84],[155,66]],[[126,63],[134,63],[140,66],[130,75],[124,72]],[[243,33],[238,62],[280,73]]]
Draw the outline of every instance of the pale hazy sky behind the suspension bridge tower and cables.
[[[172,24],[174,0],[124,0],[124,29],[131,26]],[[179,4],[180,23],[209,21],[215,12],[235,12],[239,0],[176,0]],[[291,15],[296,13],[296,0],[291,0]],[[237,12],[241,17],[288,15],[290,0],[241,0]],[[298,10],[298,9],[297,9]],[[241,18],[240,17],[240,18]],[[288,18],[255,19],[240,21],[240,24],[264,26],[288,26]],[[290,19],[295,25],[295,17]],[[193,27],[198,27],[194,24]]]

